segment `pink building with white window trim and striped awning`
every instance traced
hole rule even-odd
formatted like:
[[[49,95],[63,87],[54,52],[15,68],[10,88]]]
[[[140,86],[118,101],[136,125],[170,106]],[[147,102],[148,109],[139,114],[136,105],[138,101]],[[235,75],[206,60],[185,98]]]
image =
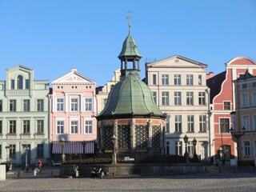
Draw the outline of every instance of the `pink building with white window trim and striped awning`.
[[[96,82],[72,69],[52,82],[50,142],[53,158],[60,154],[92,154],[97,138]],[[64,146],[61,146],[64,140]],[[83,141],[85,141],[83,143]],[[63,149],[62,149],[63,147]],[[69,157],[67,157],[69,158]]]

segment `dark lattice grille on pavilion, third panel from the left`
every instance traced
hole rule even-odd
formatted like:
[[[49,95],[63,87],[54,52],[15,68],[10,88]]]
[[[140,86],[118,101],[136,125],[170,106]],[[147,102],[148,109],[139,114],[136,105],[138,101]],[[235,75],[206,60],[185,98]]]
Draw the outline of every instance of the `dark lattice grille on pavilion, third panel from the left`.
[[[148,126],[135,126],[135,146],[136,149],[147,149],[149,131]]]

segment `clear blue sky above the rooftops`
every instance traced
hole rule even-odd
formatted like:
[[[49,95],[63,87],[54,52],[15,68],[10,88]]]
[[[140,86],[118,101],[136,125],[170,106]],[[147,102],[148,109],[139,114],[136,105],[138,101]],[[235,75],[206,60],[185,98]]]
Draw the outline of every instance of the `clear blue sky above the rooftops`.
[[[232,58],[256,60],[256,0],[0,0],[0,80],[6,69],[34,69],[54,81],[77,68],[105,85],[132,36],[146,59],[182,55],[218,74]]]

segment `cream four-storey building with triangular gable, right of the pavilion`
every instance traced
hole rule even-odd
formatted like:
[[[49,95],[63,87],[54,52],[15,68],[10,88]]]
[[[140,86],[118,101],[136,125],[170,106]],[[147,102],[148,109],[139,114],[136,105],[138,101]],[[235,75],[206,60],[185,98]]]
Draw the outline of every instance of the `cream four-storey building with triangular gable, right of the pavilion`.
[[[180,55],[146,63],[146,83],[154,102],[166,117],[166,154],[185,153],[185,135],[189,138],[188,153],[202,160],[210,157],[209,89],[206,86],[206,65]]]

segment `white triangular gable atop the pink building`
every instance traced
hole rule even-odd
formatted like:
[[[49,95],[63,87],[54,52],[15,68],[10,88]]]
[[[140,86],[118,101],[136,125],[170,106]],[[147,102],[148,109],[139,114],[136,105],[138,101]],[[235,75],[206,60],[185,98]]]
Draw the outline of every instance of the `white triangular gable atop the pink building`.
[[[76,83],[76,84],[96,84],[90,78],[78,73],[77,70],[71,70],[70,73],[65,74],[61,78],[58,78],[52,82],[52,84],[62,84],[62,83]]]

